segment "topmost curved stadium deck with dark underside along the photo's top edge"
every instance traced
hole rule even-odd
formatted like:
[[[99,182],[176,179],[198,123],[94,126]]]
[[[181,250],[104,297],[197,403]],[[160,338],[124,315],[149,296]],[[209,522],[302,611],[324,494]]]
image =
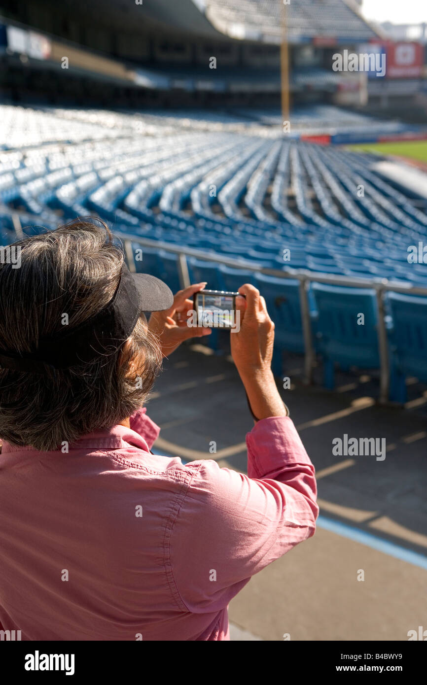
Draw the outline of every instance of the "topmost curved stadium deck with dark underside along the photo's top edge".
[[[282,0],[144,0],[141,4],[118,0],[91,0],[90,3],[63,0],[60,8],[52,0],[42,0],[38,3],[40,6],[33,9],[9,4],[11,16],[30,24],[34,19],[40,29],[47,28],[48,21],[47,17],[43,18],[42,5],[46,8],[55,5],[56,15],[66,16],[72,12],[75,24],[84,16],[92,16],[99,27],[109,23],[119,31],[156,29],[205,38],[228,36],[267,43],[280,40]],[[8,0],[3,5],[8,8]],[[333,36],[345,42],[363,41],[377,35],[352,0],[295,0],[286,9],[290,42],[313,36]],[[50,23],[55,25],[53,18]]]

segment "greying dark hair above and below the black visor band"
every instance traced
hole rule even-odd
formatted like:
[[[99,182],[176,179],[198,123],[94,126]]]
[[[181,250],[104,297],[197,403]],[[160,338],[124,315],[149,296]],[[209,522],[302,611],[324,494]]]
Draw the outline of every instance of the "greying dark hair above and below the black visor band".
[[[21,245],[21,268],[0,264],[0,349],[34,352],[38,339],[76,327],[112,299],[123,253],[100,220],[77,219]],[[161,368],[143,315],[129,343],[55,377],[0,369],[0,437],[40,451],[110,428],[143,406]]]

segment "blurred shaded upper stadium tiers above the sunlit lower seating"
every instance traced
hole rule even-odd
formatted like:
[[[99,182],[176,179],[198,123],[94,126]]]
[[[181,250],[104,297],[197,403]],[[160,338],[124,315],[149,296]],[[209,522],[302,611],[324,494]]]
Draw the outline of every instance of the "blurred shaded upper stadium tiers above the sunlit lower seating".
[[[359,79],[331,67],[334,49],[376,37],[350,3],[297,0],[287,8],[294,103],[358,100]],[[18,101],[48,95],[62,103],[131,107],[276,105],[282,6],[280,0],[40,0],[33,8],[5,0],[0,87]]]

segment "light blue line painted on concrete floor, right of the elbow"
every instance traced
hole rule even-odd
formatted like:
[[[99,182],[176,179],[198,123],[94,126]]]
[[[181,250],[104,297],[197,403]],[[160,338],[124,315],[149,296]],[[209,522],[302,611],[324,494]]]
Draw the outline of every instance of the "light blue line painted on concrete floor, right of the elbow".
[[[389,556],[393,556],[396,559],[406,561],[408,564],[421,566],[422,569],[426,569],[427,571],[427,556],[424,556],[423,554],[413,552],[411,549],[400,547],[400,545],[395,545],[394,543],[389,543],[388,540],[378,538],[376,535],[366,533],[364,530],[354,528],[352,525],[347,525],[347,523],[328,519],[327,516],[319,515],[317,525],[319,528],[329,530],[332,533],[337,533],[337,535],[341,535],[344,538],[350,538],[350,540],[354,540],[356,543],[372,547],[372,549],[376,549],[384,554],[389,554]]]

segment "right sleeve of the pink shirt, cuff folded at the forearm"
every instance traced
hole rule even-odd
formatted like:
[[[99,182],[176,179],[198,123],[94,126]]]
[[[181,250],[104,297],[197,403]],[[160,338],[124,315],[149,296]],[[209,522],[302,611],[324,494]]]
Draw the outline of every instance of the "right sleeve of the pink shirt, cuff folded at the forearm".
[[[248,475],[213,460],[194,469],[170,541],[175,586],[188,611],[228,605],[250,577],[315,533],[315,468],[287,416],[246,436]]]

